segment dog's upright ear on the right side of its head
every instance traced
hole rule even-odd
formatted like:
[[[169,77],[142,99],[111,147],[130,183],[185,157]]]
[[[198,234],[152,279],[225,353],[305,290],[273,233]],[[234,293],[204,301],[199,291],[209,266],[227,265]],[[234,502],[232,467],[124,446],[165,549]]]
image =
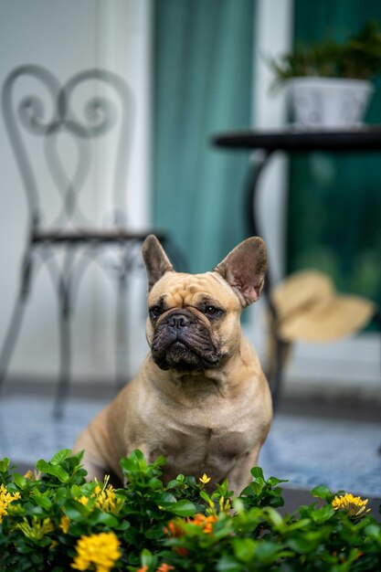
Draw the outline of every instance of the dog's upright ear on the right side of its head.
[[[266,246],[259,237],[247,238],[238,244],[214,269],[238,294],[242,307],[259,299],[266,270]]]

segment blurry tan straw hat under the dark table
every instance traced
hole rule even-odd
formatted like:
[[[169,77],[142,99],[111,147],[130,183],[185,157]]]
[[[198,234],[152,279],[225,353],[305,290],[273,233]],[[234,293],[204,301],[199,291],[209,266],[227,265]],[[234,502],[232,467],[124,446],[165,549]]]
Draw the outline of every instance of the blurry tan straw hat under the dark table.
[[[291,274],[270,293],[279,316],[277,331],[291,342],[330,342],[360,330],[376,313],[376,304],[338,294],[318,270]]]

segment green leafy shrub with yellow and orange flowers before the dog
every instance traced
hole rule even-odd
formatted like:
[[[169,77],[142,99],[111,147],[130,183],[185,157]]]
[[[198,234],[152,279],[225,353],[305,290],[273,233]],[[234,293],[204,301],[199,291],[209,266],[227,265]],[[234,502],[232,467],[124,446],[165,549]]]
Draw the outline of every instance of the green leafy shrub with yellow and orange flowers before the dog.
[[[81,455],[61,450],[35,472],[0,461],[0,569],[12,572],[373,572],[381,525],[353,494],[312,490],[310,506],[281,516],[280,480],[259,468],[238,497],[207,475],[164,485],[163,458],[122,459],[125,488],[86,482]]]

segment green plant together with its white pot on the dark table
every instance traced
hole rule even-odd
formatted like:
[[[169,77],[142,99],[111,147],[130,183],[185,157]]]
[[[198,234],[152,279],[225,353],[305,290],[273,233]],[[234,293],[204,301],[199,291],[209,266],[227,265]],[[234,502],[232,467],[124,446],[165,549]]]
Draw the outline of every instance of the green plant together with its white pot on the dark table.
[[[374,21],[344,43],[324,39],[298,45],[270,60],[274,85],[287,89],[291,119],[313,128],[345,128],[361,123],[373,94],[371,79],[381,72],[381,30]]]

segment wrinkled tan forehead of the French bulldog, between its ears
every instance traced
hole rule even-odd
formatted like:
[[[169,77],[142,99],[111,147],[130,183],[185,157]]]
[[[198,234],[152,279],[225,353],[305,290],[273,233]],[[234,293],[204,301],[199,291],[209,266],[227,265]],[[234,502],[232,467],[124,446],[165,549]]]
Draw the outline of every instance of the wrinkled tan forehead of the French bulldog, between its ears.
[[[167,272],[156,282],[149,295],[149,300],[162,300],[169,306],[185,307],[199,302],[214,302],[235,305],[239,308],[237,295],[217,272],[205,274],[185,274]]]

